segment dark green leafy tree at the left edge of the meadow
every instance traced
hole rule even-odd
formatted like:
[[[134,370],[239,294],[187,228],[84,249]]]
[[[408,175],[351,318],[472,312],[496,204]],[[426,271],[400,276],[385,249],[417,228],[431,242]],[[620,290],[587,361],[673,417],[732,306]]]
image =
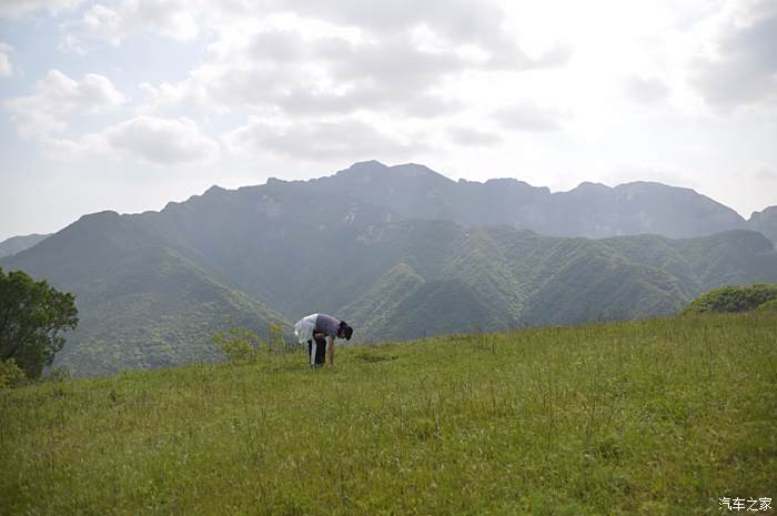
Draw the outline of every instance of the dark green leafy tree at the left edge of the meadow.
[[[28,377],[40,377],[64,345],[60,333],[77,325],[73,294],[0,269],[0,361],[13,358]]]

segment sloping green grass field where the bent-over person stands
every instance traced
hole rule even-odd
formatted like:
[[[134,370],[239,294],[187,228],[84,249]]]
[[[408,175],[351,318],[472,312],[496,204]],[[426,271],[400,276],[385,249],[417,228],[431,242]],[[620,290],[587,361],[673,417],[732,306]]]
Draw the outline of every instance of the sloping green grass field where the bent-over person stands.
[[[773,313],[336,358],[0,392],[0,513],[689,516],[729,514],[724,496],[777,502]]]

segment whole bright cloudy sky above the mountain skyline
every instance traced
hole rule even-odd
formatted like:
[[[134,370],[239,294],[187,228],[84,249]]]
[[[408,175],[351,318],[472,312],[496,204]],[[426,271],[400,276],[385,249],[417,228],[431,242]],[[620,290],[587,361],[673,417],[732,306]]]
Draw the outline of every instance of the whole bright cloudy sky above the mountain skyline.
[[[373,159],[749,217],[777,204],[777,1],[0,2],[0,240]]]

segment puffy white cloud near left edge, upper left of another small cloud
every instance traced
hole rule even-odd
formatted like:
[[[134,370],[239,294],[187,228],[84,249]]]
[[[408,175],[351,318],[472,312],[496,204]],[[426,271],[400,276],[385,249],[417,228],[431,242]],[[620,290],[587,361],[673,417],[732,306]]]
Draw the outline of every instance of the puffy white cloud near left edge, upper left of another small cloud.
[[[124,95],[104,75],[88,73],[75,81],[51,70],[38,81],[32,94],[10,99],[4,107],[20,135],[44,140],[63,131],[72,115],[104,112],[124,102]]]

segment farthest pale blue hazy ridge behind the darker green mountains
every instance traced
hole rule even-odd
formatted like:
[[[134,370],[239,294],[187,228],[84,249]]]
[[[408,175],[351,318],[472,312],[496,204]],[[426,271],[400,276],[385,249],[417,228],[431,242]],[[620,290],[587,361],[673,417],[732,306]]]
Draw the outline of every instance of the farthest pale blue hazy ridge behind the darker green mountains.
[[[777,213],[777,206],[754,212],[746,220],[693,189],[655,181],[615,186],[582,182],[568,191],[551,192],[547,186],[533,186],[513,178],[453,181],[417,163],[390,166],[372,160],[329,176],[294,181],[273,178],[270,182],[357,196],[403,217],[447,219],[474,226],[513,224],[554,236],[655,233],[690,237],[750,229],[777,240],[777,215],[771,214]],[[569,224],[571,220],[575,222]]]

